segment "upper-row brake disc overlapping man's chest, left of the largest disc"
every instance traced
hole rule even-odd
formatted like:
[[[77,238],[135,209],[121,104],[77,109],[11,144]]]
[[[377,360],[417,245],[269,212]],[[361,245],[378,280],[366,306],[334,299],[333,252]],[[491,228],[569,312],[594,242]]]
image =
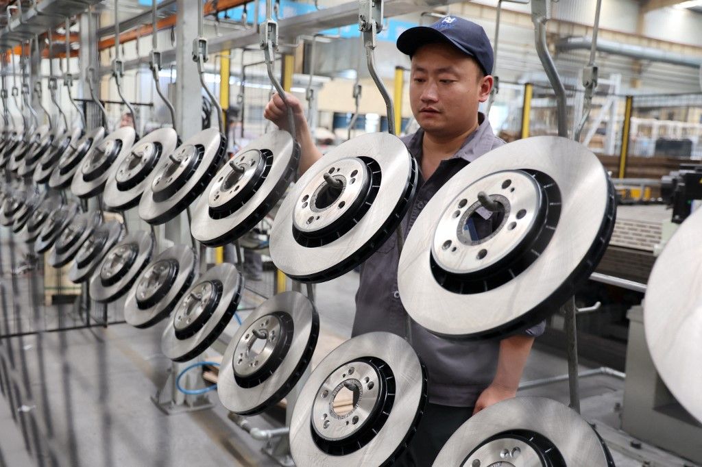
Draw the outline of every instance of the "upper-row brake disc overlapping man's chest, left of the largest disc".
[[[271,231],[274,263],[302,282],[330,280],[355,268],[395,231],[417,177],[415,159],[387,133],[331,149],[284,199]]]

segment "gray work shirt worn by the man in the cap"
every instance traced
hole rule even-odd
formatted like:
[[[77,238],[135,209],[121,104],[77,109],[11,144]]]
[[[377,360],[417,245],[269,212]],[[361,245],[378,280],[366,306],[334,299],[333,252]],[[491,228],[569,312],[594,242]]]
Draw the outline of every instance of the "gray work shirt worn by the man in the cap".
[[[459,170],[486,152],[505,142],[496,137],[490,122],[479,114],[479,126],[463,142],[453,157],[441,161],[429,180],[421,180],[416,197],[404,217],[404,231],[408,232],[430,198]],[[409,152],[421,165],[423,130],[402,138]],[[488,228],[494,222],[486,211]],[[397,265],[399,254],[393,234],[364,263],[356,294],[356,317],[352,336],[364,332],[385,331],[404,337],[407,312],[397,292]],[[538,336],[543,333],[541,323],[525,331]],[[455,342],[431,334],[417,323],[412,323],[414,350],[427,366],[429,373],[429,401],[453,407],[473,407],[480,393],[491,384],[497,367],[499,339],[475,342]]]

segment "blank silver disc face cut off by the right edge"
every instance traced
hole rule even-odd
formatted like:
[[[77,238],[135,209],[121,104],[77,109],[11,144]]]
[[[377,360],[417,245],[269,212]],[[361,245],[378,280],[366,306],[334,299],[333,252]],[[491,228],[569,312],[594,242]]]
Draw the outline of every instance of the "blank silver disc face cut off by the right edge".
[[[644,330],[658,374],[702,423],[702,210],[693,212],[656,259],[644,297]]]

